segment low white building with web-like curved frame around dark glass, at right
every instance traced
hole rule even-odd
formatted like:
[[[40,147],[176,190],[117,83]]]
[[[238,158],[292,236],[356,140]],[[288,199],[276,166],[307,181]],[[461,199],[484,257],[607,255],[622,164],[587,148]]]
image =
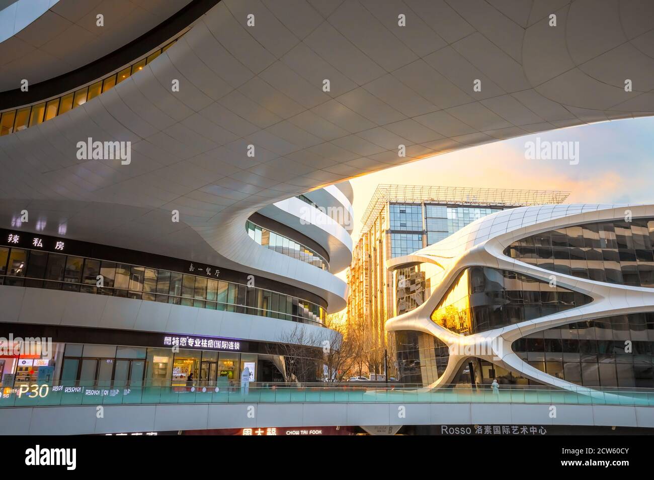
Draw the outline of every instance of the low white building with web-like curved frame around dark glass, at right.
[[[406,257],[432,295],[387,322],[405,381],[652,387],[654,206],[505,210]],[[436,286],[434,286],[436,285]]]

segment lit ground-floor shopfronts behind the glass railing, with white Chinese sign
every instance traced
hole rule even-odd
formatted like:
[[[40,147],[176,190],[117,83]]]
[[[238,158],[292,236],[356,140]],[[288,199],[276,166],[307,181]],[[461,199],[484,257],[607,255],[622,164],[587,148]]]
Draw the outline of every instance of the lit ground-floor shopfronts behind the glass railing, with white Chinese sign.
[[[12,327],[20,330],[17,325]],[[22,328],[31,334],[30,327]],[[34,328],[37,327],[32,330]],[[102,329],[56,329],[63,330],[60,335],[63,338],[103,338],[105,332],[109,332]],[[251,382],[283,381],[280,369],[284,362],[276,354],[275,344],[149,332],[130,335],[144,346],[57,342],[59,339],[55,337],[47,348],[37,347],[35,351],[25,353],[21,351],[20,342],[0,342],[2,386],[6,389],[21,385],[111,389],[221,387],[240,385],[245,368],[250,372]],[[184,348],[179,347],[182,338]]]

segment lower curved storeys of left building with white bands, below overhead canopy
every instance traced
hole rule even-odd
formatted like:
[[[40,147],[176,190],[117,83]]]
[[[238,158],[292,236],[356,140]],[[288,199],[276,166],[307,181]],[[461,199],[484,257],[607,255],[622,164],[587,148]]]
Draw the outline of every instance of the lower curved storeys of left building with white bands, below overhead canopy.
[[[315,203],[278,202],[242,225],[241,248],[254,252],[255,264],[271,259],[292,269],[289,278],[323,279],[337,292],[332,272],[351,258],[349,234],[330,217],[301,221],[300,210],[325,220]],[[292,351],[295,362],[315,362],[318,347],[336,340],[324,326],[334,299],[284,277],[48,236],[26,219],[0,231],[4,387],[218,388],[240,381],[245,368],[250,381],[311,381],[317,368],[300,373],[286,357]],[[335,298],[343,302],[343,295]],[[35,349],[28,338],[39,339]]]

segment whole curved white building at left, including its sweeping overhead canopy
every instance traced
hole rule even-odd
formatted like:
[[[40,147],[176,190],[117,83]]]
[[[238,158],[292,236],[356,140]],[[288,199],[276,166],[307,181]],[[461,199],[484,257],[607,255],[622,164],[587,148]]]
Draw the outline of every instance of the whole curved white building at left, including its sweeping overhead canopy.
[[[0,323],[78,345],[74,382],[174,377],[150,349],[182,337],[220,340],[184,357],[216,379],[289,325],[313,344],[346,304],[349,178],[654,112],[647,2],[116,0],[102,29],[95,2],[24,4],[0,4]]]

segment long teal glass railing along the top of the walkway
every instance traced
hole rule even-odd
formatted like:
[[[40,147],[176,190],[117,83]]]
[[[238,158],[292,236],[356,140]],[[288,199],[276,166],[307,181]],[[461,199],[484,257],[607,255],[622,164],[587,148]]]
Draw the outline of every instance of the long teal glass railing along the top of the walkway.
[[[290,386],[250,383],[230,385],[103,386],[26,385],[5,387],[0,408],[26,406],[230,404],[230,403],[503,403],[570,404],[654,407],[654,389],[598,389],[572,391],[553,388],[520,389],[441,388],[390,386],[361,387],[352,383]]]

